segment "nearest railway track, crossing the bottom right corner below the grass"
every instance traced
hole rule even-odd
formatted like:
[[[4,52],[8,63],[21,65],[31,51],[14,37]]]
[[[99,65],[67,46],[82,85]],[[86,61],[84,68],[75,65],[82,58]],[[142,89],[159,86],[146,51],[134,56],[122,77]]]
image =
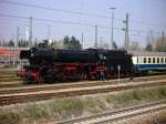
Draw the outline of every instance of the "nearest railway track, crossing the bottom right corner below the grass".
[[[107,111],[104,113],[91,115],[91,116],[82,116],[72,120],[51,122],[49,124],[107,124],[107,123],[116,123],[122,122],[128,118],[143,116],[149,114],[152,112],[158,112],[166,108],[166,101],[146,103],[142,105],[136,105],[132,107],[121,108],[117,111]],[[163,124],[164,122],[160,122]]]

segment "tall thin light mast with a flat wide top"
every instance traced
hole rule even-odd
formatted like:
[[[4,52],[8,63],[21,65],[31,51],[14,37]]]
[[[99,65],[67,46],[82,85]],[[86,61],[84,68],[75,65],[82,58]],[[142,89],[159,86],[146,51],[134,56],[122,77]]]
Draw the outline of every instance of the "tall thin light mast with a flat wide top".
[[[111,50],[113,50],[113,42],[114,42],[114,10],[116,8],[110,8],[112,10],[112,37],[111,37]]]

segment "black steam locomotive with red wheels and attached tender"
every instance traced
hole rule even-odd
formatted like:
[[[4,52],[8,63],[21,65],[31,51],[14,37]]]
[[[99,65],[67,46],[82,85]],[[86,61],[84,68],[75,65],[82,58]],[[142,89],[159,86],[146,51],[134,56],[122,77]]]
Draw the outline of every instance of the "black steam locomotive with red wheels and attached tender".
[[[50,50],[32,48],[21,51],[29,65],[19,72],[25,81],[53,83],[55,81],[105,80],[133,75],[132,55],[112,50]]]

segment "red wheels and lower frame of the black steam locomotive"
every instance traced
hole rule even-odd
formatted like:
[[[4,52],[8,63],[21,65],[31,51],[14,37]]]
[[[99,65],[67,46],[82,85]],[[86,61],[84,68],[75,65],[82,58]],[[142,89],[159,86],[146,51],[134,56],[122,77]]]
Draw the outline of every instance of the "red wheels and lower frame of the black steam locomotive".
[[[43,82],[43,74],[49,71],[53,81],[100,80],[101,72],[106,72],[106,68],[101,63],[53,63],[53,66],[31,66],[33,71],[32,69],[29,71],[29,68],[24,65],[24,70],[18,74],[24,80],[29,79],[37,83]]]

